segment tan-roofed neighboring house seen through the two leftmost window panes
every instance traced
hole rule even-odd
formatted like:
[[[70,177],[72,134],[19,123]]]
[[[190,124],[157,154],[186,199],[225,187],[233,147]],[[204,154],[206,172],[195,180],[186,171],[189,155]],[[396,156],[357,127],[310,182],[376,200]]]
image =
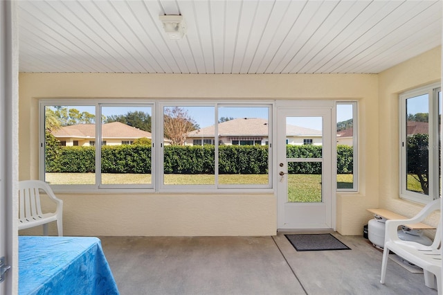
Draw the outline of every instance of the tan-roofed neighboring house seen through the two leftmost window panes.
[[[62,145],[88,146],[96,144],[95,124],[64,126],[55,130],[52,134]],[[102,125],[102,145],[131,144],[137,138],[143,137],[152,139],[152,134],[120,122]]]

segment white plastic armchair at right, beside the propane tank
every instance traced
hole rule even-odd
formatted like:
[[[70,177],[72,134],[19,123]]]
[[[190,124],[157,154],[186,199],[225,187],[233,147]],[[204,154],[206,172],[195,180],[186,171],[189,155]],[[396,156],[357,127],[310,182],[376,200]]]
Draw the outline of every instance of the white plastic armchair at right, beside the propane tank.
[[[417,242],[410,242],[400,240],[397,234],[398,226],[402,224],[414,224],[422,222],[425,217],[436,210],[440,210],[440,198],[424,206],[415,217],[408,220],[387,220],[385,231],[385,247],[383,250],[383,262],[381,262],[381,280],[380,283],[385,283],[386,267],[388,266],[389,251],[392,251],[401,256],[408,262],[421,267],[424,272],[424,283],[427,287],[437,288],[439,294],[442,294],[442,252],[440,244],[442,242],[441,224],[442,220],[437,226],[437,232],[431,246],[425,246]],[[437,278],[437,286],[435,285],[435,278]]]

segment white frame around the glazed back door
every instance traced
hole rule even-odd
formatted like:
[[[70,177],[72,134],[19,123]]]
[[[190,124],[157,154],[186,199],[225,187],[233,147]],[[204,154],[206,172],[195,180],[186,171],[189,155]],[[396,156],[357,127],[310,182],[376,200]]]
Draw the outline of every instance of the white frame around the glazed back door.
[[[273,117],[275,118],[273,134],[275,134],[275,138],[278,134],[278,126],[277,126],[277,118],[278,118],[278,110],[279,109],[331,109],[331,126],[329,130],[324,130],[331,132],[331,171],[329,175],[331,177],[331,230],[336,231],[336,170],[337,170],[337,151],[336,151],[336,101],[335,100],[275,100],[275,108]],[[276,202],[276,211],[277,211],[277,231],[291,231],[291,229],[280,229],[279,228],[279,199],[278,199],[278,181],[279,176],[277,175],[278,171],[278,141],[275,140],[275,147],[273,149],[273,159],[275,159],[273,167],[274,167],[274,181],[273,186],[275,188],[275,202]],[[325,175],[328,175],[325,172]],[[296,231],[300,231],[302,229],[293,229]],[[306,230],[314,230],[314,229],[306,229]]]

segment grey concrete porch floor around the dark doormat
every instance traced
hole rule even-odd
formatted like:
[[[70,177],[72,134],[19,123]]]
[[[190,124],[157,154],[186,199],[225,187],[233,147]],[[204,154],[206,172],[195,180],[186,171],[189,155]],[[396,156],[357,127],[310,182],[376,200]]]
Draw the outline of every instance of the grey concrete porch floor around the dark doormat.
[[[437,294],[362,237],[333,233],[352,250],[297,252],[266,237],[101,237],[122,295]]]

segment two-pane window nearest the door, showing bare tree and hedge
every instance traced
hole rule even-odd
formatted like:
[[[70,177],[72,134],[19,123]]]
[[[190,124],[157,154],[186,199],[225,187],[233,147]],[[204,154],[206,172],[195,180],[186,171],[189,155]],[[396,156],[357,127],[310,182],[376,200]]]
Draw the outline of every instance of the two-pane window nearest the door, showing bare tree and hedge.
[[[270,188],[269,105],[161,105],[161,188]]]

